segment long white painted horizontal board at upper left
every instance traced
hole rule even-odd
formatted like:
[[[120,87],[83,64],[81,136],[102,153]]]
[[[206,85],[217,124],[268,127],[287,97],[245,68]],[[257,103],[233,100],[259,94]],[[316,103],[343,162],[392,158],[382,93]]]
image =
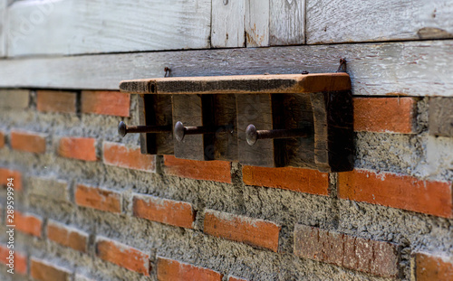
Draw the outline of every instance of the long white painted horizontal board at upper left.
[[[209,48],[210,0],[47,0],[9,7],[9,56]]]

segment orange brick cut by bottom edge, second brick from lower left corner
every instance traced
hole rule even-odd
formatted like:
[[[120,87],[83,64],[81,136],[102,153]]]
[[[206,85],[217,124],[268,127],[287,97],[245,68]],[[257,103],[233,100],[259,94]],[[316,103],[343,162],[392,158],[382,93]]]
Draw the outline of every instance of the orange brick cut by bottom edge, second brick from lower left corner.
[[[72,272],[69,269],[53,263],[32,258],[30,264],[30,275],[36,280],[69,281],[72,279]]]

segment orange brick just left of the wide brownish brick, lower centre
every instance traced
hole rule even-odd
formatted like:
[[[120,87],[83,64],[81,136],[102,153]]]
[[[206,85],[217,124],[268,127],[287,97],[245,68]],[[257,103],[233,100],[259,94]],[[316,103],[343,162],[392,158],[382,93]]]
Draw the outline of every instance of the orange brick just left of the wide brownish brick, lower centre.
[[[205,233],[275,252],[278,250],[280,229],[281,227],[272,221],[214,210],[207,210],[205,213]]]

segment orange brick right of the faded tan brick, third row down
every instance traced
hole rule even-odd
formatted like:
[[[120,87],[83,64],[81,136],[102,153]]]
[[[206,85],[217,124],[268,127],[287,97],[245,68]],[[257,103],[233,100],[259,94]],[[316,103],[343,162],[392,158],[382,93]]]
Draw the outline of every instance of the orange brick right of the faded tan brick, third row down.
[[[78,184],[75,189],[75,203],[101,211],[121,212],[121,194],[119,192],[83,184]]]

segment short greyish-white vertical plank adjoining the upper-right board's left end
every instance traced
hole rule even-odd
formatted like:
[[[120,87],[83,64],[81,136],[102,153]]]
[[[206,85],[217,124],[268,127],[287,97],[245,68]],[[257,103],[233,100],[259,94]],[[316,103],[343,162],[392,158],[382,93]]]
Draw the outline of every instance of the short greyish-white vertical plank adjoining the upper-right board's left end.
[[[305,0],[271,0],[270,12],[271,46],[305,42]]]

